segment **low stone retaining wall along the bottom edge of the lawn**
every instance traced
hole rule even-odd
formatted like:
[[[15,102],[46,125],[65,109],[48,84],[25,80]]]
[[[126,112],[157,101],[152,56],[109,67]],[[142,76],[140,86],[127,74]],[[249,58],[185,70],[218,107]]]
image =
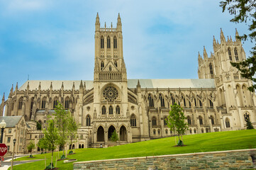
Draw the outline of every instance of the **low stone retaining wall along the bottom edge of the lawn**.
[[[256,169],[256,149],[75,162],[74,169]]]

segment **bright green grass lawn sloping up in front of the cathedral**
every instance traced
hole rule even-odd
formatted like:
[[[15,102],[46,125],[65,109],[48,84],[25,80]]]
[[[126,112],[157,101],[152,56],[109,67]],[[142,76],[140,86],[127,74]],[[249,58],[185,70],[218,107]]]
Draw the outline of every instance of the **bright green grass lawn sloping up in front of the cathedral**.
[[[175,145],[175,137],[167,137],[159,140],[137,142],[118,147],[99,149],[76,149],[76,154],[68,155],[67,157],[69,159],[77,159],[81,162],[99,159],[115,159],[126,157],[155,156],[164,154],[183,154],[194,152],[256,148],[256,130],[211,132],[198,135],[187,135],[184,136],[183,139],[184,145],[187,145],[186,147],[173,147]],[[61,153],[62,152],[60,152],[60,155]],[[33,159],[44,159],[46,157],[47,164],[50,164],[50,154],[37,154],[33,156],[35,157]],[[56,157],[57,152],[55,152],[53,160],[55,160]],[[21,161],[28,159],[28,157],[22,157],[16,160]],[[60,169],[72,169],[72,166],[72,163],[64,164],[63,161],[57,162],[57,167]],[[13,166],[13,169],[17,170],[44,168],[44,161]]]

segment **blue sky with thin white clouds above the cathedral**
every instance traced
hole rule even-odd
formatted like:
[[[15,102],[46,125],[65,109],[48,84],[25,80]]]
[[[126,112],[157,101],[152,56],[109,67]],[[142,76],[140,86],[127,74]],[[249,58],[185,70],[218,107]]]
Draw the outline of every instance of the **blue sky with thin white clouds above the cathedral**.
[[[33,80],[93,80],[94,23],[123,23],[128,79],[197,79],[198,52],[213,52],[220,28],[235,39],[219,1],[0,0],[0,98],[11,84]],[[252,44],[244,43],[249,55]]]

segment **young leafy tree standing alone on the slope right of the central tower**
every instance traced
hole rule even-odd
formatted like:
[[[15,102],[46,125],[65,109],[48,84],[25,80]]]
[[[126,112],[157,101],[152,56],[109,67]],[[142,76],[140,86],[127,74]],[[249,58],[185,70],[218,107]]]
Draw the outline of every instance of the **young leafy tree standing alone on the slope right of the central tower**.
[[[188,124],[185,123],[186,117],[183,113],[183,108],[177,103],[174,103],[174,105],[171,106],[171,111],[169,111],[169,115],[167,118],[167,125],[170,130],[176,131],[179,136],[182,137],[184,135],[185,130],[188,130]],[[178,146],[184,145],[183,138],[178,142]]]

